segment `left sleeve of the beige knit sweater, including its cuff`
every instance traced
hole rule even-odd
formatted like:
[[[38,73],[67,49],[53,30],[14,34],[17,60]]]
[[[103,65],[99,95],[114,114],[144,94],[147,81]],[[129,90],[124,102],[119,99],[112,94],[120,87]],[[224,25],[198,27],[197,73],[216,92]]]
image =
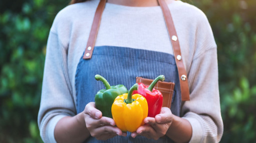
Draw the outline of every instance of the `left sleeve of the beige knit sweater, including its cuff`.
[[[59,36],[50,32],[43,73],[38,126],[44,143],[55,143],[54,128],[65,116],[76,114],[67,69],[67,48]]]

